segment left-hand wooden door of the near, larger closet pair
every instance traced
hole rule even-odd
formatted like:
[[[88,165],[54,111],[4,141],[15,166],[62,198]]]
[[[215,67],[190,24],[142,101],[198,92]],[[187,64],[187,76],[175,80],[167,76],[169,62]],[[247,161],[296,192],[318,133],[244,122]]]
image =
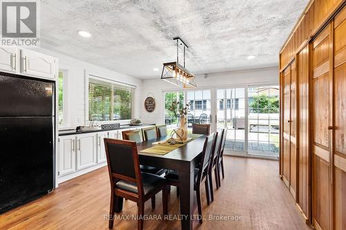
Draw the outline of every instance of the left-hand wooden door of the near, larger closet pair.
[[[312,48],[312,195],[313,224],[318,229],[330,229],[330,147],[331,137],[331,26],[327,26],[313,41]]]

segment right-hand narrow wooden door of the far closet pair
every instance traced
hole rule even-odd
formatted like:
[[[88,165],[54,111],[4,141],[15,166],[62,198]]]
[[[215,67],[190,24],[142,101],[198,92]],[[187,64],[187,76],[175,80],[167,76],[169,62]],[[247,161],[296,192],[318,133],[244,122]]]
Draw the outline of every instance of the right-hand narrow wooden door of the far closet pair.
[[[290,186],[289,191],[295,199],[295,192],[297,191],[297,68],[295,61],[291,64],[291,119],[289,119],[290,125]]]

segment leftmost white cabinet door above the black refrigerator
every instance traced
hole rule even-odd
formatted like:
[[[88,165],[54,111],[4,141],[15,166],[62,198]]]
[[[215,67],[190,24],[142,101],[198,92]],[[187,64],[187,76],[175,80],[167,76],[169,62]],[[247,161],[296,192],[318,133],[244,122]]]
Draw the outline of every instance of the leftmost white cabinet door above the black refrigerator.
[[[0,46],[0,70],[17,73],[19,58],[17,52],[17,48]]]

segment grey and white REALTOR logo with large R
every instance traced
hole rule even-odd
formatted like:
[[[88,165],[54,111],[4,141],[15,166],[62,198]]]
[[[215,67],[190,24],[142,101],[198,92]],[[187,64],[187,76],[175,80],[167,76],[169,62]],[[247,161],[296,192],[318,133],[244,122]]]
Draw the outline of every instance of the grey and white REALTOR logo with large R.
[[[1,1],[1,45],[37,46],[39,1]]]

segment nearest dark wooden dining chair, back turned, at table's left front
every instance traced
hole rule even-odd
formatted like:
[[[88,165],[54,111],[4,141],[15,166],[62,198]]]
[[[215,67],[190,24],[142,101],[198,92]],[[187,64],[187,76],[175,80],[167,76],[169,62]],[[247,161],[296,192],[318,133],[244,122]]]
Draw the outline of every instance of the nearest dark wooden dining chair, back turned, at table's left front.
[[[104,146],[111,182],[109,229],[113,228],[114,213],[119,213],[122,209],[123,198],[138,205],[138,230],[143,229],[145,202],[160,191],[163,193],[163,214],[167,215],[165,178],[140,171],[136,142],[104,138]],[[152,209],[155,209],[155,200],[152,200]]]

